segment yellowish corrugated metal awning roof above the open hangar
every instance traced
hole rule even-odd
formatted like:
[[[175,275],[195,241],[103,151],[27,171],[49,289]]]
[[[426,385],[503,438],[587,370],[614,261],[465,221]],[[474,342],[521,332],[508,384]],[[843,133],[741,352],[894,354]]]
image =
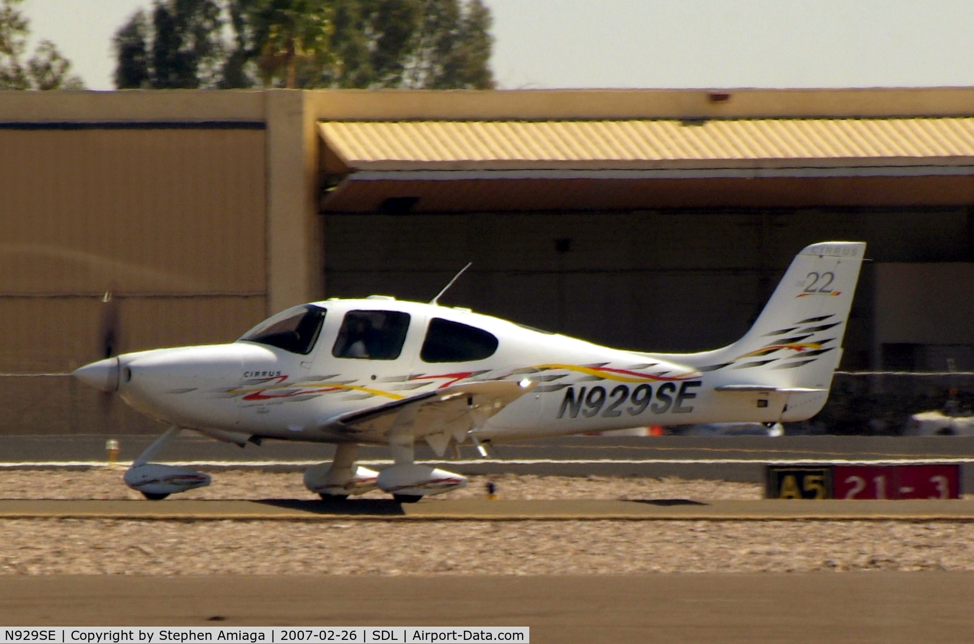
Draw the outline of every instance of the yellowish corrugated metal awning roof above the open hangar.
[[[360,170],[967,165],[974,118],[325,122]]]

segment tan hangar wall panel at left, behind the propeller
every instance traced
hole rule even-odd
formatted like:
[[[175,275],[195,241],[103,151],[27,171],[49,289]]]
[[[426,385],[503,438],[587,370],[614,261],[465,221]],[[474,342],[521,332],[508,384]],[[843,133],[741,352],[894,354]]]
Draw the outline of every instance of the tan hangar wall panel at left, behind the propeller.
[[[264,317],[262,130],[0,130],[0,372],[232,340]]]

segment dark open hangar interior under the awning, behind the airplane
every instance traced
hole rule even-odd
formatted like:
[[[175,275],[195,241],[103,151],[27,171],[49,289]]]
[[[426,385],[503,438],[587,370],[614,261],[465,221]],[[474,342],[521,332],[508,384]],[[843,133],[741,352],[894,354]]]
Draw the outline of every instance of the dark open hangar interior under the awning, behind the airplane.
[[[441,299],[546,330],[643,351],[736,340],[794,253],[864,240],[876,262],[967,261],[966,208],[328,212],[328,296]],[[905,243],[909,240],[909,243]],[[846,368],[869,368],[873,267],[850,321]]]

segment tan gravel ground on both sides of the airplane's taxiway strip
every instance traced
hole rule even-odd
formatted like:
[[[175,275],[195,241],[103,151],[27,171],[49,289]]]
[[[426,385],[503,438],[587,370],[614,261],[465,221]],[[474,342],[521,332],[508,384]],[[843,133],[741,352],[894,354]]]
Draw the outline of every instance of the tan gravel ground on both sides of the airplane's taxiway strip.
[[[138,498],[121,472],[0,474],[0,498]],[[756,484],[492,476],[506,499],[757,499]],[[449,497],[481,495],[474,476]],[[131,495],[130,495],[131,493]],[[313,498],[300,474],[230,471],[182,498]],[[381,496],[381,495],[379,495]],[[163,502],[165,503],[165,502]],[[0,520],[2,574],[501,574],[974,570],[974,524],[906,521]]]

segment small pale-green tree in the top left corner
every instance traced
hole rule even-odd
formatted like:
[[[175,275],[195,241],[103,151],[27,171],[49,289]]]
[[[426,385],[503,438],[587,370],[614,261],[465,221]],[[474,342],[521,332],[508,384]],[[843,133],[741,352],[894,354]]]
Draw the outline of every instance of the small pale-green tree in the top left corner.
[[[42,40],[33,56],[23,59],[30,21],[19,12],[23,0],[0,0],[0,90],[83,90],[71,74],[71,62],[56,45]]]

